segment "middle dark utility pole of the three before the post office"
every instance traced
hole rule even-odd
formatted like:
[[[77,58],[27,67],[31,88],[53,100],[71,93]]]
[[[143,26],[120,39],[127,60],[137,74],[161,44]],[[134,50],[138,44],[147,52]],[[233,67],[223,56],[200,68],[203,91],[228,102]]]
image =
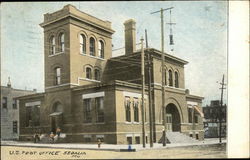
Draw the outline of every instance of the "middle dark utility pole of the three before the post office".
[[[146,37],[146,49],[148,49],[148,36],[147,30],[145,30]],[[151,56],[148,52],[148,107],[149,107],[149,133],[150,133],[150,147],[153,147],[153,116],[152,116],[152,96],[151,96]]]

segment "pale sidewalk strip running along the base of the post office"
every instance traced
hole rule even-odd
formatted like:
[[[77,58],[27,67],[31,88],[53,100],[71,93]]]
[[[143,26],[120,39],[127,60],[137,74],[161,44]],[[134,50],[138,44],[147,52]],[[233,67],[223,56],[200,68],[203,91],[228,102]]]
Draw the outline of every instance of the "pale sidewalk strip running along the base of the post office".
[[[222,139],[222,143],[226,143],[226,139]],[[154,143],[153,148],[150,148],[149,144],[146,144],[146,148],[142,147],[142,144],[133,144],[132,149],[146,150],[146,149],[163,149],[174,147],[186,147],[186,146],[202,146],[202,145],[214,145],[219,144],[218,138],[205,139],[203,141],[195,143],[175,143],[166,144],[165,147],[160,143]],[[20,142],[20,141],[1,141],[1,146],[22,146],[22,147],[36,147],[36,148],[60,148],[60,149],[85,149],[85,150],[109,150],[120,151],[120,149],[128,149],[128,145],[116,145],[116,144],[102,144],[101,148],[97,147],[97,144],[80,144],[80,143],[59,143],[59,144],[41,144],[32,142]]]

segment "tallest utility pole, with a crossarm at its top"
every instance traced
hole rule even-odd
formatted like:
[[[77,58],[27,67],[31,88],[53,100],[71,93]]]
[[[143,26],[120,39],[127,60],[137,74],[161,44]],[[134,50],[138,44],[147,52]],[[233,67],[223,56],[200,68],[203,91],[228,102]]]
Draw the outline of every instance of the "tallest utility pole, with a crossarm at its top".
[[[161,75],[162,75],[162,82],[161,82],[161,90],[162,90],[162,123],[163,123],[163,141],[162,145],[166,146],[166,117],[165,117],[165,87],[164,87],[164,62],[165,62],[165,56],[164,56],[164,23],[163,23],[163,11],[173,9],[174,7],[162,9],[159,11],[152,12],[151,14],[161,12]]]

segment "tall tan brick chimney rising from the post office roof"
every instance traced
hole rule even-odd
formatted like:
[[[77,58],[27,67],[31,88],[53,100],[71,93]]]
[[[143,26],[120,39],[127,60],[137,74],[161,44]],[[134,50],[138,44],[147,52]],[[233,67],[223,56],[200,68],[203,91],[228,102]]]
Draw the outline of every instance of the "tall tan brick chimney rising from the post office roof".
[[[124,22],[125,26],[125,55],[132,54],[136,50],[135,20],[129,19]]]

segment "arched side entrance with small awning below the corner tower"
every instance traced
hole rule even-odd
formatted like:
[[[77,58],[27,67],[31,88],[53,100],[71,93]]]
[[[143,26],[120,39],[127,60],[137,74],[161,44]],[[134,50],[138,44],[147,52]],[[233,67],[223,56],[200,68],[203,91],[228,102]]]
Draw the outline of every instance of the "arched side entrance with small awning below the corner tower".
[[[51,117],[51,132],[56,132],[57,127],[62,127],[62,113],[63,113],[63,106],[60,102],[54,103],[52,106],[52,113],[50,114]]]

